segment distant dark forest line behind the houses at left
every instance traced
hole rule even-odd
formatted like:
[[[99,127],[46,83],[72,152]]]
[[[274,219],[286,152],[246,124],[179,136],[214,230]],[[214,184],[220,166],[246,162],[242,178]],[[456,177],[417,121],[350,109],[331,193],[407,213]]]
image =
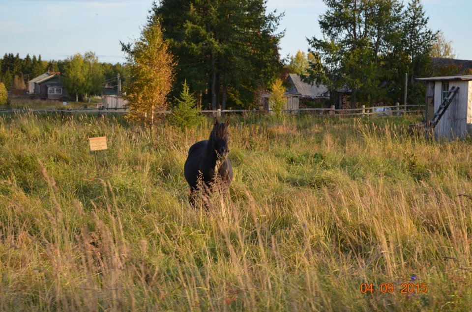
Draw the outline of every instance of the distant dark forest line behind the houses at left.
[[[41,55],[29,54],[25,58],[21,58],[17,53],[5,53],[0,58],[0,82],[3,82],[8,91],[12,89],[28,89],[28,81],[38,77],[46,72],[60,72],[67,76],[65,71],[66,60],[50,60],[44,61]],[[122,64],[116,63],[99,63],[103,78],[101,78],[97,90],[102,90],[105,86],[117,91],[117,76],[120,74],[121,83],[126,80],[126,71]]]

